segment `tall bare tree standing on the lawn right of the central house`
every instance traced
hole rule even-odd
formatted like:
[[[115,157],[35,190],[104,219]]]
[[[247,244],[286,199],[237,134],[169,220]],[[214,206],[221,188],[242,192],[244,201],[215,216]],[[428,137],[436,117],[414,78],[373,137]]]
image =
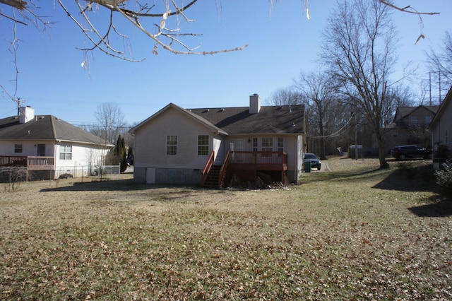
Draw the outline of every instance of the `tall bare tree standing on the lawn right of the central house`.
[[[376,1],[340,1],[324,31],[322,61],[366,117],[379,148],[380,168],[388,166],[381,128],[391,103],[388,87],[396,64],[396,33],[388,6]]]

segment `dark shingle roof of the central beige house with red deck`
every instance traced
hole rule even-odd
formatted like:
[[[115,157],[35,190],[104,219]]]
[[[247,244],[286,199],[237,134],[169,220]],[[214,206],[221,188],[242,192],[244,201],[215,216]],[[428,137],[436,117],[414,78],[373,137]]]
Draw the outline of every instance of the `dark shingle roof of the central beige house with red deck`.
[[[256,114],[249,112],[249,107],[216,107],[183,109],[170,103],[159,112],[141,122],[129,132],[133,133],[143,124],[157,115],[174,107],[184,112],[198,122],[206,124],[218,131],[219,134],[303,134],[304,133],[304,105],[292,106],[261,106]]]

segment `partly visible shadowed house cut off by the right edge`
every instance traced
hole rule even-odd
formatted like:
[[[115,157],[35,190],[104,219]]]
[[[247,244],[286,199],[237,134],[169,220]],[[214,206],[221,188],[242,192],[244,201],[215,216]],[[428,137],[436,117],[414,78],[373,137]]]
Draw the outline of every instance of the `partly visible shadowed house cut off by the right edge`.
[[[439,147],[448,148],[448,155],[446,158],[452,158],[452,87],[448,90],[446,97],[444,98],[438,112],[436,113],[432,123],[429,126],[430,133],[432,133],[432,146],[433,146],[433,156],[438,157],[435,154]],[[443,157],[444,155],[441,155]],[[439,158],[444,159],[444,158]]]

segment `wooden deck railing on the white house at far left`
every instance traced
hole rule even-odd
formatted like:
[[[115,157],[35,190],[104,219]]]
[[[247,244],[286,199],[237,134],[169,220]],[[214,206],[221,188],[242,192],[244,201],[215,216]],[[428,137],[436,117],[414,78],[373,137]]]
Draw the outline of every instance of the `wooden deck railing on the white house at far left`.
[[[28,170],[54,170],[53,157],[0,155],[0,167],[27,167]]]

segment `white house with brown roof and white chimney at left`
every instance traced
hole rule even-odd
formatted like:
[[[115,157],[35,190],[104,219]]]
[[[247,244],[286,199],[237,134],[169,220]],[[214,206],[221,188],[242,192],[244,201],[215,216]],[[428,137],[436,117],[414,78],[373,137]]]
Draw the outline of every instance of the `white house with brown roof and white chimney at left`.
[[[26,165],[29,170],[53,170],[89,175],[103,165],[112,144],[52,115],[35,115],[20,107],[18,116],[0,119],[0,166]]]

